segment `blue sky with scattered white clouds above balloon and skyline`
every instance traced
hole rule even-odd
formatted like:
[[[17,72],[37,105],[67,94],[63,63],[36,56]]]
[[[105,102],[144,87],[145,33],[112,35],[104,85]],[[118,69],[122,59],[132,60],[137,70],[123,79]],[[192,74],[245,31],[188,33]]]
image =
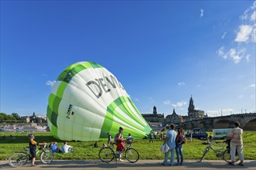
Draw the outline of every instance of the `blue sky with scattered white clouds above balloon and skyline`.
[[[255,112],[255,1],[1,1],[1,110],[46,115],[51,86],[93,61],[142,114]]]

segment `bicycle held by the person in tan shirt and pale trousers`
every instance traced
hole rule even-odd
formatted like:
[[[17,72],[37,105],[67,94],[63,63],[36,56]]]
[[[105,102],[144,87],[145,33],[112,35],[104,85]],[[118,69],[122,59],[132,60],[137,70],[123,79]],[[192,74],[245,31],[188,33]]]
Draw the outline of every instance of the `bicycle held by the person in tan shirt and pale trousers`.
[[[225,148],[226,145],[218,145],[220,142],[215,141],[216,146],[220,147],[220,149],[215,149],[212,146],[212,144],[213,144],[212,141],[209,140],[209,139],[207,139],[207,141],[208,141],[208,146],[206,147],[205,151],[203,152],[202,158],[204,158],[207,155],[208,151],[210,149],[212,149],[214,151],[214,153],[216,154],[216,157],[222,158],[226,162],[232,162],[231,161],[231,155],[230,155],[230,148],[228,147],[229,145]],[[223,142],[229,144],[230,141],[226,140],[226,141],[223,141]],[[199,162],[202,162],[202,158],[200,159]],[[236,161],[235,162],[237,162],[238,160],[239,160],[239,158],[236,154]]]

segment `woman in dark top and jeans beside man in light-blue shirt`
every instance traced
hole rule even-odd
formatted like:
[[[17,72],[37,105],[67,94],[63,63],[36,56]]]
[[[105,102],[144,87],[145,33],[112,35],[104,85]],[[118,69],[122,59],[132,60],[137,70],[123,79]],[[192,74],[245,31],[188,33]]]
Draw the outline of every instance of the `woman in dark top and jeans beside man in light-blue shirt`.
[[[186,138],[184,131],[182,128],[178,128],[178,134],[175,139],[176,143],[176,155],[177,155],[177,165],[182,165],[183,164],[183,151],[182,151],[182,145],[185,144]],[[181,160],[179,159],[181,158]]]

